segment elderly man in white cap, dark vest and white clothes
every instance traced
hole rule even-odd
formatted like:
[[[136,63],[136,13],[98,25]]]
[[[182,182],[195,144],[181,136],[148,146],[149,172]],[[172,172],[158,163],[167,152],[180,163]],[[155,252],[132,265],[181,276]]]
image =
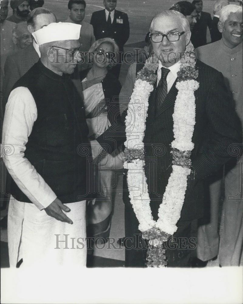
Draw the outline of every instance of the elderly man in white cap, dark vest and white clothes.
[[[3,123],[2,157],[12,176],[10,266],[86,265],[86,163],[82,100],[69,75],[80,25],[51,23],[33,33],[40,60],[14,85]],[[70,249],[75,250],[70,250]]]

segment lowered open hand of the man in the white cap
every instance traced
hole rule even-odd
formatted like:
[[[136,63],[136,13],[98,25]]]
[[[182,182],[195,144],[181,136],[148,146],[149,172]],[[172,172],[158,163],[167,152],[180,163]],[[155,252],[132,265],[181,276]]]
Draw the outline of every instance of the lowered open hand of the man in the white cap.
[[[63,211],[70,212],[71,209],[68,208],[67,206],[63,205],[63,203],[58,198],[56,198],[44,210],[46,211],[47,215],[54,217],[58,221],[73,224],[73,221],[69,217],[67,217],[65,213],[63,213]]]

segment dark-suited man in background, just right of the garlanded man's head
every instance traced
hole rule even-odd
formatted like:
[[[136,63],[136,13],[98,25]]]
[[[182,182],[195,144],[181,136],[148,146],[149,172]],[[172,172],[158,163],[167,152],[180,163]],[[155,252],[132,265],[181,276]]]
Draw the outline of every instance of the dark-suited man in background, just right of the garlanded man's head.
[[[197,12],[197,23],[192,29],[191,42],[194,47],[200,47],[207,44],[207,27],[211,30],[211,15],[203,12],[202,0],[193,0],[192,4]]]

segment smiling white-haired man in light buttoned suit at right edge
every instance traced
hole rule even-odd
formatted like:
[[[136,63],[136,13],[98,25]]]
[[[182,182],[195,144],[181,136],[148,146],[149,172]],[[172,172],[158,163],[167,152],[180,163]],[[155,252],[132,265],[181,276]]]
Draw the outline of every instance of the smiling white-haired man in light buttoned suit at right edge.
[[[220,11],[218,28],[222,39],[196,50],[197,57],[220,71],[235,102],[235,110],[243,128],[242,82],[242,7],[227,5]],[[221,196],[221,175],[213,177],[210,184],[210,221],[198,229],[197,257],[207,261],[218,255],[221,266],[243,264],[243,198],[239,162],[225,165],[224,202],[221,218],[220,240],[218,213]],[[241,171],[242,174],[242,171]]]

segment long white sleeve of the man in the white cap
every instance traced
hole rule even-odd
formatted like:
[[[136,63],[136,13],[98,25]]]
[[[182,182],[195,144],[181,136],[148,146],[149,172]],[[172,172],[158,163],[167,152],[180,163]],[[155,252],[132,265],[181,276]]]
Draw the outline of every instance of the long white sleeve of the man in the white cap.
[[[50,205],[56,194],[25,158],[26,143],[37,119],[36,103],[28,88],[15,88],[6,104],[2,130],[2,155],[5,165],[19,189],[39,210]],[[5,155],[7,148],[11,153]]]

